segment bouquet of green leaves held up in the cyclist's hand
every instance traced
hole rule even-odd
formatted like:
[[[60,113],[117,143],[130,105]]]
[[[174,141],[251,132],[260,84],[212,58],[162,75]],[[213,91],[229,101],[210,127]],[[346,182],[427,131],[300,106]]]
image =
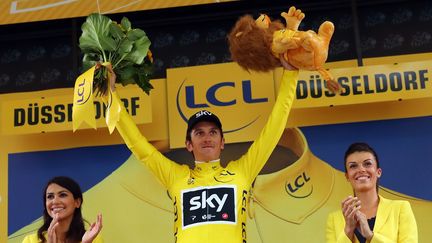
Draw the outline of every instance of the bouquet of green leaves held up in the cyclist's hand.
[[[136,83],[149,94],[153,88],[149,82],[153,58],[149,50],[151,42],[143,30],[133,29],[126,17],[119,24],[98,13],[89,15],[81,29],[79,47],[84,54],[83,69],[98,67],[93,78],[96,95],[108,92],[109,63],[117,77],[116,83]]]

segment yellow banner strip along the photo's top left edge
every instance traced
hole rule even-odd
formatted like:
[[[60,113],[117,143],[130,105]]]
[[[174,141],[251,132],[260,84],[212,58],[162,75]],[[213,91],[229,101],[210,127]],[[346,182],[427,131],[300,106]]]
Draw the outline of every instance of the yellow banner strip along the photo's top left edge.
[[[113,14],[234,0],[3,0],[0,25],[87,16],[91,13]]]

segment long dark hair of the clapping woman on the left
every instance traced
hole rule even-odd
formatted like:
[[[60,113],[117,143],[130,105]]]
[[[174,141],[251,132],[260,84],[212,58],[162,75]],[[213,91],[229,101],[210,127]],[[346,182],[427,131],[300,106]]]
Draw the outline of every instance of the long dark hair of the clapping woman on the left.
[[[46,190],[48,189],[48,186],[51,184],[57,184],[61,187],[66,188],[69,190],[74,199],[80,199],[81,205],[79,208],[76,208],[72,217],[72,222],[69,226],[69,230],[66,233],[66,238],[72,241],[81,242],[81,239],[85,233],[85,227],[84,227],[84,219],[81,214],[81,206],[83,204],[83,196],[81,192],[81,188],[74,180],[72,180],[69,177],[66,176],[58,176],[54,177],[51,180],[48,181],[46,184],[44,190],[43,190],[43,218],[44,223],[38,230],[38,238],[42,242],[46,242],[46,239],[43,235],[44,232],[46,232],[51,224],[51,221],[53,220],[51,216],[48,214],[48,211],[46,209]]]

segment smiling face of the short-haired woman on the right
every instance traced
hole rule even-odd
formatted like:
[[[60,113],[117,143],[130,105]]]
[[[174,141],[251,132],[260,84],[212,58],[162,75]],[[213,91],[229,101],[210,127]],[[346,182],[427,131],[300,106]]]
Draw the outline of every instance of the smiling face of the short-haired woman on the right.
[[[346,157],[345,177],[351,183],[354,191],[364,192],[376,190],[381,168],[378,168],[375,157],[370,152],[354,152]]]

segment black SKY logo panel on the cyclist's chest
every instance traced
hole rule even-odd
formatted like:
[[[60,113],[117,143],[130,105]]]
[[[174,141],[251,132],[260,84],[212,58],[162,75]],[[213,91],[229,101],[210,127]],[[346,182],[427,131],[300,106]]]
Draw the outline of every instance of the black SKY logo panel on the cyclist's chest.
[[[236,224],[236,187],[199,187],[182,191],[183,228],[201,224]]]

